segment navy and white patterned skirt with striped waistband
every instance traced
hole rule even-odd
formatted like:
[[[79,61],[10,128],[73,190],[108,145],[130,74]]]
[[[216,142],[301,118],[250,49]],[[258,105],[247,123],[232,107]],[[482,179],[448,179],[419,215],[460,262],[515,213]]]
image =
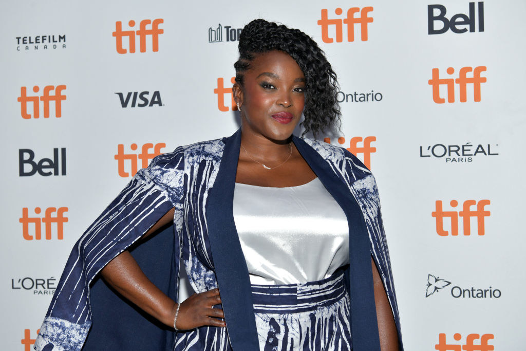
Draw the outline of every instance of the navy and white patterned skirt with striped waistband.
[[[260,350],[351,350],[350,302],[342,270],[316,282],[251,287]],[[232,348],[226,328],[200,327],[178,333],[174,350]]]

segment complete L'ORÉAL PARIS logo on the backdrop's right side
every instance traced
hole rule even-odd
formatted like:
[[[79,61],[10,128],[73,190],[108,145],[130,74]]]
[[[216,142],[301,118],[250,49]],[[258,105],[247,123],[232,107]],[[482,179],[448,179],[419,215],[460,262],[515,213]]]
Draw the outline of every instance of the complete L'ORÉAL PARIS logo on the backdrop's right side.
[[[420,158],[439,158],[446,163],[469,163],[484,156],[498,156],[499,144],[420,145]]]

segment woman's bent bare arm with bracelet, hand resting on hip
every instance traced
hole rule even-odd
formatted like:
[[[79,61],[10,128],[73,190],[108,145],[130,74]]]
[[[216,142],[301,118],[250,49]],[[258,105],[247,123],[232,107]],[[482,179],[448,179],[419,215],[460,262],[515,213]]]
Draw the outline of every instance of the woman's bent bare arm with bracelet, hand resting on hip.
[[[141,240],[171,223],[173,218],[174,209],[172,208],[145,233]],[[110,286],[130,302],[165,325],[173,327],[177,304],[150,282],[128,250],[109,262],[102,269],[101,274]],[[210,318],[224,317],[221,309],[212,308],[220,303],[221,299],[217,289],[189,297],[181,303],[179,308],[177,328],[193,329],[203,325],[224,327],[223,320]]]

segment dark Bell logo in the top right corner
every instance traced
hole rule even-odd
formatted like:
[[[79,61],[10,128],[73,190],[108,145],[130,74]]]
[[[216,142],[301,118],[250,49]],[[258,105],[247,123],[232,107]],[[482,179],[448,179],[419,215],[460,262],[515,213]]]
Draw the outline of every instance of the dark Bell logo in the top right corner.
[[[479,32],[484,32],[484,3],[479,2]],[[439,13],[434,15],[434,10],[438,10]],[[435,29],[435,22],[442,22],[442,28]],[[473,33],[475,31],[475,3],[469,3],[469,16],[464,14],[457,14],[451,17],[451,19],[446,18],[446,6],[444,5],[428,5],[428,34],[442,34],[446,33],[449,29],[453,33],[466,33],[468,28],[459,28],[462,26],[469,25],[469,32]]]

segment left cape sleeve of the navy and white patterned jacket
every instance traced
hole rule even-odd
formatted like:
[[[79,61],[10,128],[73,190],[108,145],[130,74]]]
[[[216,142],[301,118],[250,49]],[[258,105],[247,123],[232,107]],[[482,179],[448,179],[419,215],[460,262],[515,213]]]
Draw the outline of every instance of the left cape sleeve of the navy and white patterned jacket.
[[[183,224],[183,149],[159,155],[141,169],[77,240],[60,277],[35,350],[80,350],[92,325],[90,282],[118,254],[175,207],[175,232]],[[175,240],[180,252],[180,240]],[[180,257],[180,254],[175,255]],[[179,262],[176,263],[178,274]]]

